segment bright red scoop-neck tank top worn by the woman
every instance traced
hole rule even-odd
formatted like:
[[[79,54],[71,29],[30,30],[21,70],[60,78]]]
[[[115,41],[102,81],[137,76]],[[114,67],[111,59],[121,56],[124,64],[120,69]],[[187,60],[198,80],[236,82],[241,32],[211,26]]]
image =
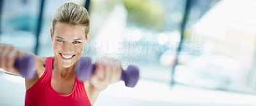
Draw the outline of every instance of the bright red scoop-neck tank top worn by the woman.
[[[73,91],[61,95],[52,89],[51,78],[52,57],[47,57],[44,74],[26,91],[25,106],[91,106],[83,82],[76,78]]]

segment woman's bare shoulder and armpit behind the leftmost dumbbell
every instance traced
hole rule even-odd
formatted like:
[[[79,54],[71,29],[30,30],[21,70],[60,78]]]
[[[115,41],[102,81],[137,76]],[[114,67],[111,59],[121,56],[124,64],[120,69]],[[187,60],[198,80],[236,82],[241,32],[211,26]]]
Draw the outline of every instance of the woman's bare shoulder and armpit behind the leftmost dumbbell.
[[[35,57],[36,57],[36,75],[33,79],[25,79],[26,90],[32,87],[36,83],[36,81],[44,74],[46,57],[41,57],[36,55]]]

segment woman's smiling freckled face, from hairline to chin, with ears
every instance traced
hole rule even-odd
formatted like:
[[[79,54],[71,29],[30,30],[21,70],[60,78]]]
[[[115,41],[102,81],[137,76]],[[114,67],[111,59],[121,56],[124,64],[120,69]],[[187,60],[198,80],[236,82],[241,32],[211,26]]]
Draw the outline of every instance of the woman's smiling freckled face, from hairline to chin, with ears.
[[[89,38],[89,33],[86,38],[84,30],[84,26],[63,23],[57,23],[54,32],[51,29],[54,55],[56,62],[61,63],[61,66],[72,66],[83,54],[84,45]]]

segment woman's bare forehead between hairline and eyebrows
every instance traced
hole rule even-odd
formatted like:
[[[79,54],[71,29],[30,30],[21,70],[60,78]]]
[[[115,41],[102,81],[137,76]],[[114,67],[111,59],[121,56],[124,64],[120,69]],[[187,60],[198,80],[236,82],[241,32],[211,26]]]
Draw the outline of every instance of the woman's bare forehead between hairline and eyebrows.
[[[85,38],[85,27],[57,23],[54,26],[54,35],[61,36],[61,38]]]

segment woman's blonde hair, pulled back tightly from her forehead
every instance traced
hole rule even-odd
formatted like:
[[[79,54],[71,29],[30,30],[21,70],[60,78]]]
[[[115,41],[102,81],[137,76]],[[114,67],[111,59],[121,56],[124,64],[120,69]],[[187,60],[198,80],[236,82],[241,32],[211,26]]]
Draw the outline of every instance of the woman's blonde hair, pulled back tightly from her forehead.
[[[83,7],[75,3],[63,4],[52,17],[52,34],[54,34],[55,24],[58,22],[65,23],[70,26],[84,26],[85,38],[90,31],[90,19],[88,11]]]

